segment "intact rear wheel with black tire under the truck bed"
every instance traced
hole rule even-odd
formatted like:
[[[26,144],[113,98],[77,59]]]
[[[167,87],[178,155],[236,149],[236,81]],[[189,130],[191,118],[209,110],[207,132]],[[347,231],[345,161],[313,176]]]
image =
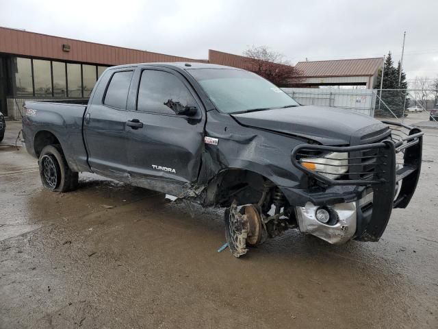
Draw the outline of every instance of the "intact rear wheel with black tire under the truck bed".
[[[61,145],[48,145],[38,159],[42,185],[50,191],[68,192],[77,188],[79,173],[68,167]]]

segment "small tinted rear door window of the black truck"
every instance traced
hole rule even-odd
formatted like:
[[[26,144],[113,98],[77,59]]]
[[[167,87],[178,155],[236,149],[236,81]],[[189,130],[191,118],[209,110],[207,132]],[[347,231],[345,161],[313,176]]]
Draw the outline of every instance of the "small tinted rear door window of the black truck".
[[[126,110],[129,85],[133,71],[116,72],[112,75],[103,103],[113,108]]]

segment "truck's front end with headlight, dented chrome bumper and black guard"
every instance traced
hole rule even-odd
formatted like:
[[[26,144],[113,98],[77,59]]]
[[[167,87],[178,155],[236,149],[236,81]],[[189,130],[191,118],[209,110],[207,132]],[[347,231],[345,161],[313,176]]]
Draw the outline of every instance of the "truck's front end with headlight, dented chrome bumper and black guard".
[[[391,136],[376,143],[300,145],[292,151],[292,163],[314,186],[301,191],[301,197],[304,192],[309,200],[295,207],[301,232],[333,244],[350,239],[378,241],[391,210],[406,208],[420,175],[423,133],[399,123],[388,124]],[[327,161],[331,159],[337,160]],[[295,194],[285,192],[289,197]]]

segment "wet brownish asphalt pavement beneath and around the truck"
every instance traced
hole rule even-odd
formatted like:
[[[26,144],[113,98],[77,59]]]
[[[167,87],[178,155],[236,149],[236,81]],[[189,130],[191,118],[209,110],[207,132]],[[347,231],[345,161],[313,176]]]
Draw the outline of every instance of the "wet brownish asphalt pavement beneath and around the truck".
[[[0,328],[438,328],[438,130],[378,243],[289,231],[236,259],[222,210],[79,175],[52,193],[0,143]]]

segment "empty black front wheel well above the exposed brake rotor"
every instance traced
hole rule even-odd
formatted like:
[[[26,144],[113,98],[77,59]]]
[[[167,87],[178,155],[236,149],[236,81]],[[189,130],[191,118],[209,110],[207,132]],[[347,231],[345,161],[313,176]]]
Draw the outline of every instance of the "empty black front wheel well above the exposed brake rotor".
[[[263,175],[244,169],[221,171],[208,184],[207,204],[229,207],[236,199],[237,204],[254,204],[263,194]]]

